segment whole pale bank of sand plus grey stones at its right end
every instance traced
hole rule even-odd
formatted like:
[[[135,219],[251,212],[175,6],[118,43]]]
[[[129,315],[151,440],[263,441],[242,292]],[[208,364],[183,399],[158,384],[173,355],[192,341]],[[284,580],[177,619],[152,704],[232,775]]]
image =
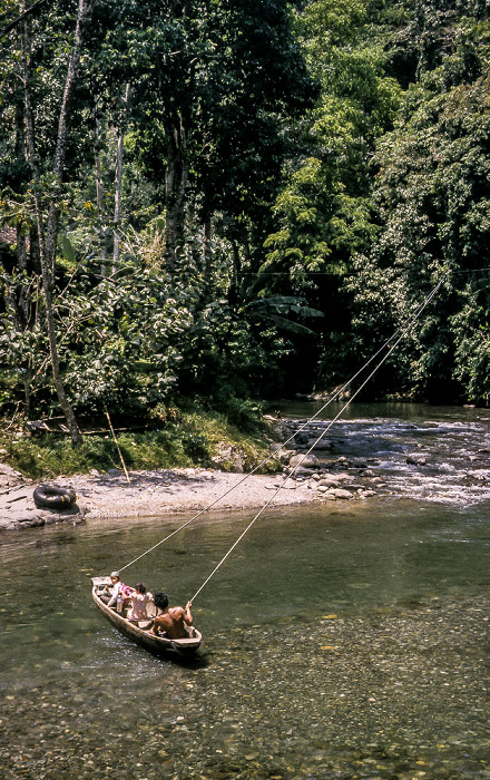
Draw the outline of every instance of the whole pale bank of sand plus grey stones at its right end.
[[[303,456],[293,456],[302,459]],[[0,529],[78,524],[90,518],[151,517],[204,509],[255,509],[271,503],[274,506],[303,505],[314,501],[364,499],[376,495],[385,484],[371,470],[347,468],[339,458],[329,468],[321,467],[308,456],[311,467],[300,467],[287,479],[287,472],[246,475],[214,469],[180,468],[130,471],[119,469],[107,474],[59,477],[53,482],[72,488],[76,504],[63,511],[39,509],[33,490],[39,482],[2,466],[0,471]],[[3,489],[1,480],[3,478]],[[9,482],[6,485],[6,482]],[[371,488],[378,488],[373,490]]]

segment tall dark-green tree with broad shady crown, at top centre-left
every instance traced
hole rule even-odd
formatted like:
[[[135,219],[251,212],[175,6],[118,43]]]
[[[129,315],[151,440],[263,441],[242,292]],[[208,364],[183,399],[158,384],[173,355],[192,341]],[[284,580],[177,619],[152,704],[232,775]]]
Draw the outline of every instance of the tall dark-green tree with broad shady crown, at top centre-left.
[[[129,9],[124,25],[122,32],[108,31],[104,47],[130,65],[133,120],[148,175],[156,185],[164,181],[173,266],[189,217],[197,216],[207,240],[216,212],[236,222],[245,213],[264,218],[288,117],[311,104],[313,84],[284,0],[147,0]]]

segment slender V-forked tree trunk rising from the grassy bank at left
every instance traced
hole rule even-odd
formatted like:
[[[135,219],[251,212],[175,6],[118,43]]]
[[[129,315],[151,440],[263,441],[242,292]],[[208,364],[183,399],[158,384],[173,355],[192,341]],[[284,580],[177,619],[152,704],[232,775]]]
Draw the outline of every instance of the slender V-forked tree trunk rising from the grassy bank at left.
[[[77,76],[78,64],[80,59],[80,51],[84,39],[84,28],[88,16],[88,2],[87,0],[79,0],[78,2],[78,16],[77,16],[77,27],[75,31],[75,43],[68,62],[68,72],[65,81],[65,91],[61,101],[61,108],[58,121],[58,135],[55,152],[55,160],[52,166],[52,173],[55,174],[58,188],[61,186],[63,169],[65,169],[65,157],[66,157],[66,145],[68,138],[68,108],[70,98],[72,95],[75,80]],[[33,114],[30,99],[30,88],[29,88],[29,45],[27,27],[24,26],[23,33],[23,66],[24,66],[24,106],[26,106],[26,127],[27,127],[27,148],[29,162],[32,170],[33,178],[33,198],[36,208],[36,220],[38,227],[39,237],[39,256],[41,263],[41,275],[42,275],[42,290],[45,295],[45,306],[46,306],[46,325],[48,330],[49,339],[49,351],[51,358],[51,369],[52,378],[55,382],[55,388],[58,394],[58,400],[60,402],[63,415],[67,419],[67,425],[70,431],[71,441],[74,445],[81,443],[81,433],[78,428],[78,423],[68,400],[67,392],[61,379],[60,365],[59,365],[59,354],[58,354],[58,342],[56,337],[55,316],[52,310],[52,289],[53,289],[53,275],[55,275],[55,260],[56,260],[56,247],[58,241],[58,226],[59,226],[59,192],[51,193],[51,198],[49,203],[48,211],[48,222],[45,232],[43,218],[42,218],[42,207],[40,203],[40,177],[39,168],[37,162],[36,153],[36,140],[35,140],[35,128],[33,128]]]

